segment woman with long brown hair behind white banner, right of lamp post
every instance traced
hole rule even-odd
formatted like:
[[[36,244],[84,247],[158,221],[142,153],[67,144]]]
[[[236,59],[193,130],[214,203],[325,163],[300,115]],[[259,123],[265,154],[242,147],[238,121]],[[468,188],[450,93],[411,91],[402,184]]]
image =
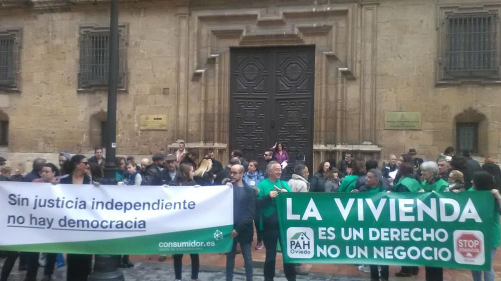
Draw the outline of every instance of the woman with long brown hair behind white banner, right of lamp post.
[[[194,168],[191,163],[185,162],[179,165],[179,173],[177,176],[170,182],[170,185],[178,185],[178,186],[195,186],[198,187],[200,185],[196,184],[196,181],[193,179],[194,176]],[[169,185],[164,184],[164,187],[168,187]],[[176,280],[182,279],[182,270],[183,270],[183,254],[173,254],[174,257],[174,274],[176,275]],[[200,268],[200,259],[198,253],[190,253],[191,258],[191,279],[198,279],[198,270]]]

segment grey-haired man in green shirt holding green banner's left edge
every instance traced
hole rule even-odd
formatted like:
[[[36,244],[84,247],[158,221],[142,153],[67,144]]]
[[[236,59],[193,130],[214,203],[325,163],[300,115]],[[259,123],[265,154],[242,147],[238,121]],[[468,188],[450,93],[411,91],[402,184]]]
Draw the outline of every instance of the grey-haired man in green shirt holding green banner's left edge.
[[[266,166],[268,178],[258,184],[259,195],[256,203],[261,207],[263,242],[266,247],[264,266],[265,281],[273,281],[275,277],[275,260],[277,258],[277,241],[280,230],[275,198],[281,192],[291,192],[286,181],[280,180],[282,166],[277,161],[271,161]],[[296,280],[296,269],[293,263],[284,263],[284,273],[288,281]]]

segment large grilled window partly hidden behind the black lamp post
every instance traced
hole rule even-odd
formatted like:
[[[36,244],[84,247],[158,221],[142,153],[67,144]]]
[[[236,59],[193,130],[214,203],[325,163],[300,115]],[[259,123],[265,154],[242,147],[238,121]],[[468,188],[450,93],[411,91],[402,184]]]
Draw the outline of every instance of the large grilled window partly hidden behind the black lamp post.
[[[126,86],[126,26],[119,26],[118,87]],[[108,27],[81,27],[79,88],[108,86],[110,31]]]

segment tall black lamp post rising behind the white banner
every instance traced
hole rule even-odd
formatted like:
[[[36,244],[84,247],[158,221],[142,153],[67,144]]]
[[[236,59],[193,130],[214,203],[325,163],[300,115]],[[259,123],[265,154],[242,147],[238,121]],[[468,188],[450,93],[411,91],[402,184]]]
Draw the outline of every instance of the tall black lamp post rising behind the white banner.
[[[108,111],[107,111],[107,143],[104,176],[115,178],[115,147],[117,131],[117,84],[118,84],[118,0],[111,0],[110,20],[110,64],[108,68]],[[96,255],[94,271],[89,275],[89,281],[124,281],[122,271],[118,269],[120,256]]]

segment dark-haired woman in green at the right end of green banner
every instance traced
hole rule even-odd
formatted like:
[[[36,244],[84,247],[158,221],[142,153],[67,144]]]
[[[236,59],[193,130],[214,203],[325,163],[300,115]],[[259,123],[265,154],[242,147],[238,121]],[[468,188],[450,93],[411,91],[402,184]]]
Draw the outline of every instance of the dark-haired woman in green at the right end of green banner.
[[[494,202],[495,206],[492,221],[494,227],[492,227],[492,248],[490,250],[491,261],[494,260],[494,254],[496,252],[496,248],[499,246],[499,240],[501,238],[501,225],[499,224],[499,213],[501,212],[501,195],[499,195],[499,190],[495,189],[494,187],[495,183],[492,175],[490,175],[490,173],[488,173],[487,171],[478,171],[473,174],[473,187],[468,190],[490,190],[490,192],[492,192],[492,195],[496,199]],[[482,273],[483,279],[485,281],[494,281],[494,269],[492,268],[492,265],[490,266],[489,271],[471,270],[473,281],[482,281]]]

